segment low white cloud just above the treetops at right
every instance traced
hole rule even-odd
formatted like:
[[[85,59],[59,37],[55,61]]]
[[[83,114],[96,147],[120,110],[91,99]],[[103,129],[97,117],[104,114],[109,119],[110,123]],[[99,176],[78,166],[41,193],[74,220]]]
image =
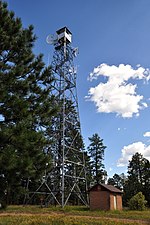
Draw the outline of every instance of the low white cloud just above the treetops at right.
[[[124,146],[121,150],[122,156],[117,162],[118,167],[127,166],[132,156],[138,152],[143,155],[144,158],[150,160],[150,145],[145,145],[142,142],[135,142],[130,145]]]

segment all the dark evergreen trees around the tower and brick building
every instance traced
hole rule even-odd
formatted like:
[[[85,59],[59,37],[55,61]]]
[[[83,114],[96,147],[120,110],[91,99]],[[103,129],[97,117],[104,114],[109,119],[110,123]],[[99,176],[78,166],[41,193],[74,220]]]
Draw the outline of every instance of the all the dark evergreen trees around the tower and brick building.
[[[45,66],[42,54],[33,53],[35,41],[33,26],[23,28],[21,19],[0,1],[0,205],[23,204],[28,183],[34,191],[45,171],[53,167],[56,137],[52,121],[61,105],[53,93],[51,66]],[[71,103],[67,104],[69,108]],[[74,113],[73,106],[71,110]],[[74,135],[77,128],[68,129]],[[76,143],[85,155],[87,188],[106,182],[103,139],[93,134],[87,149],[81,136]],[[108,184],[124,191],[124,205],[139,191],[150,205],[150,162],[136,153],[128,175],[115,174]]]

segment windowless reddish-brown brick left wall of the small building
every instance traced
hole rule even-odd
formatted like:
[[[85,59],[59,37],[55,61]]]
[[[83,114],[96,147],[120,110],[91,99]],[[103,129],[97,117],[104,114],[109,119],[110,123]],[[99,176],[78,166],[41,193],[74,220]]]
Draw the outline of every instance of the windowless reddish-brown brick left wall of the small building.
[[[90,192],[90,209],[109,210],[110,200],[108,191]]]

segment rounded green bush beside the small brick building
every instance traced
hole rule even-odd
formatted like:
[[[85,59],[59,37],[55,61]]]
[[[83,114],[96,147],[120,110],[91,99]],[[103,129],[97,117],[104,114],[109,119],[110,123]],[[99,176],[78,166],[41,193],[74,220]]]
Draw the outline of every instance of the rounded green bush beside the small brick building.
[[[147,201],[145,200],[145,196],[142,192],[138,192],[129,200],[129,208],[131,210],[144,210],[146,207]]]

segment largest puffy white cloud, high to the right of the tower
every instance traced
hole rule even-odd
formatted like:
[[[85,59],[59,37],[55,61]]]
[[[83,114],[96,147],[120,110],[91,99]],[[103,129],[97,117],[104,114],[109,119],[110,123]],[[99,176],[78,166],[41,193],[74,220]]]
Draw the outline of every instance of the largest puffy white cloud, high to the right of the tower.
[[[94,102],[98,112],[114,112],[122,117],[138,116],[139,110],[148,107],[142,102],[143,96],[136,93],[136,84],[127,83],[129,79],[148,80],[150,70],[138,67],[133,69],[130,65],[120,64],[109,66],[101,64],[94,68],[89,80],[98,77],[107,77],[106,83],[99,83],[89,89],[87,98]]]

